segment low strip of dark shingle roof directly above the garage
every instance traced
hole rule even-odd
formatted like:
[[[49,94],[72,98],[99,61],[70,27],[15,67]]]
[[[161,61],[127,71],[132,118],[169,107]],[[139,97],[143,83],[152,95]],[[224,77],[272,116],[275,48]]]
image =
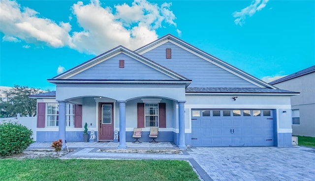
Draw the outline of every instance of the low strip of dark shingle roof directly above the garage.
[[[298,93],[269,88],[186,88],[188,93]]]

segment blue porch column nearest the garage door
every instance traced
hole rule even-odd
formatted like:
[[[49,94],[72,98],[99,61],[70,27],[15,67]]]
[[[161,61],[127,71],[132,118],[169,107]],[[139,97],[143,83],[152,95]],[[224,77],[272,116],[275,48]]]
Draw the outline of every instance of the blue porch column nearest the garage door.
[[[178,126],[179,126],[179,144],[180,149],[186,150],[185,144],[185,102],[178,101]]]

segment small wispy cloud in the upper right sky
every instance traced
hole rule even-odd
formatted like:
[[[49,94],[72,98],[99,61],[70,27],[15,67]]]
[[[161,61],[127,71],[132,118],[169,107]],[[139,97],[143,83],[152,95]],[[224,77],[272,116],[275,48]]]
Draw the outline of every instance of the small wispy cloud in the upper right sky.
[[[253,0],[251,5],[245,7],[241,11],[235,11],[232,15],[234,18],[234,23],[242,26],[245,23],[247,17],[251,17],[257,11],[263,9],[269,0]]]

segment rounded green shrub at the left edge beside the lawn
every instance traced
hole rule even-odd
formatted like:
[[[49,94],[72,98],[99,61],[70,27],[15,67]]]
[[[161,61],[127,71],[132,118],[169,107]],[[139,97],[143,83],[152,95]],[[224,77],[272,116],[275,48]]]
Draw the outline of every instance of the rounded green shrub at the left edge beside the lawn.
[[[20,153],[33,143],[32,130],[18,122],[0,123],[0,156]]]

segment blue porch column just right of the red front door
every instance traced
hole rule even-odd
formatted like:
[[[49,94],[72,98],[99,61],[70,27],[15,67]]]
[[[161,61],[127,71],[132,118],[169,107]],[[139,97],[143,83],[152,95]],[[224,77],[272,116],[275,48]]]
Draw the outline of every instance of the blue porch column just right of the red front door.
[[[117,149],[126,149],[126,101],[119,100],[119,146]]]

